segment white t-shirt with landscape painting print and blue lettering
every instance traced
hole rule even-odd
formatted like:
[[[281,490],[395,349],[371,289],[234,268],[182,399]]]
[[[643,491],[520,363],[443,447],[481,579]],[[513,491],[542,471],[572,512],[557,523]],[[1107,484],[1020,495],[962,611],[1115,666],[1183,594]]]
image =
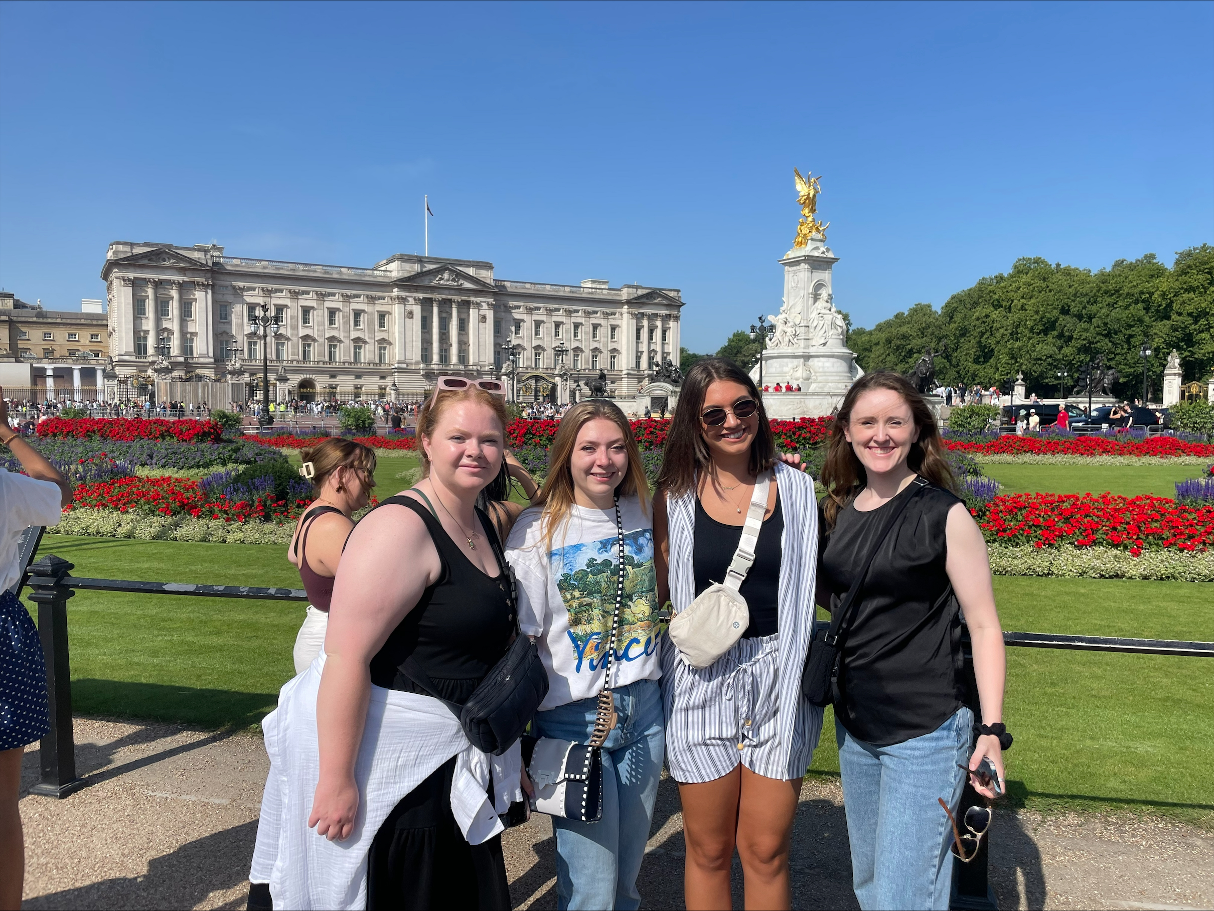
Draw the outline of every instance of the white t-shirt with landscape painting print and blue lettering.
[[[624,524],[624,598],[620,604],[614,688],[662,675],[653,520],[637,497],[619,502]],[[541,511],[527,509],[506,542],[518,583],[518,628],[535,636],[548,669],[545,712],[597,696],[603,685],[606,640],[615,610],[619,564],[615,510],[571,507],[569,521],[544,547]]]

